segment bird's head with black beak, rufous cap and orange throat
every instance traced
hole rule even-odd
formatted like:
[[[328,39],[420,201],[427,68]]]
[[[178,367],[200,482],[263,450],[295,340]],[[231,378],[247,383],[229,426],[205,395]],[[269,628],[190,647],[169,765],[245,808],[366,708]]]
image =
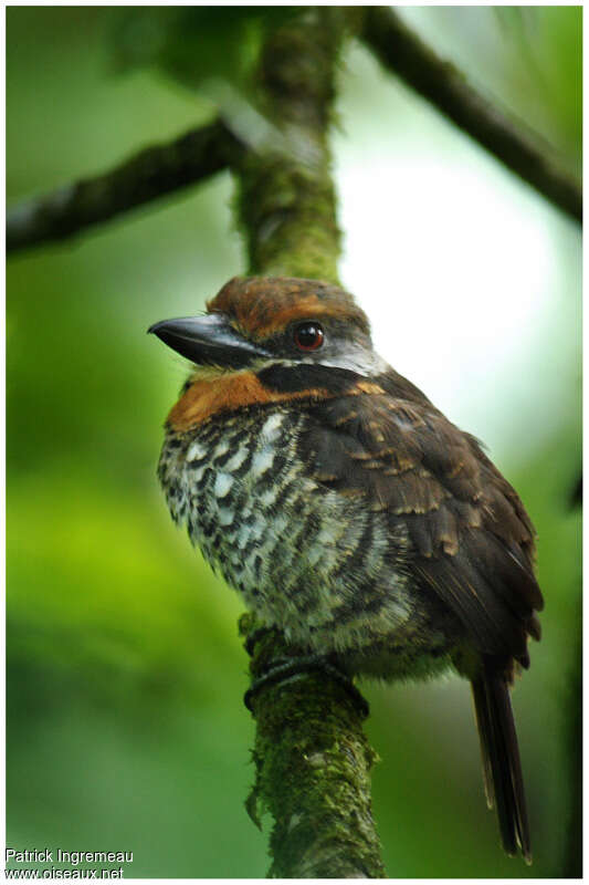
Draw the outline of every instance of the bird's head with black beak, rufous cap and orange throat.
[[[234,278],[207,314],[149,332],[194,364],[169,418],[182,429],[219,410],[362,391],[387,371],[354,298],[317,280]]]

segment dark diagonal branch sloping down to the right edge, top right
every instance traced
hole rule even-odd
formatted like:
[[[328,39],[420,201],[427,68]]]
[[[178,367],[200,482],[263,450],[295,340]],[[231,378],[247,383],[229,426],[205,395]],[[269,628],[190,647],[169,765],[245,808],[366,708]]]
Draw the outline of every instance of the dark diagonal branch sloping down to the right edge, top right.
[[[388,7],[367,7],[361,38],[381,64],[550,202],[582,221],[580,187]]]

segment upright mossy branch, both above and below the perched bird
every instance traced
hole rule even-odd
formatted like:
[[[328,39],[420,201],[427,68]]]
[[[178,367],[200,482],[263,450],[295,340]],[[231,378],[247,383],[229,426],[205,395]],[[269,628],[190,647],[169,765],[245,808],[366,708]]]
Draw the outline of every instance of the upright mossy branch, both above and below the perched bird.
[[[236,201],[250,272],[337,281],[339,230],[328,147],[334,80],[346,27],[335,8],[307,8],[274,31],[260,65],[260,110],[272,143],[244,157]],[[241,622],[252,676],[293,657],[277,631]],[[385,876],[370,802],[375,752],[339,681],[304,673],[253,700],[254,821],[274,821],[269,875]]]

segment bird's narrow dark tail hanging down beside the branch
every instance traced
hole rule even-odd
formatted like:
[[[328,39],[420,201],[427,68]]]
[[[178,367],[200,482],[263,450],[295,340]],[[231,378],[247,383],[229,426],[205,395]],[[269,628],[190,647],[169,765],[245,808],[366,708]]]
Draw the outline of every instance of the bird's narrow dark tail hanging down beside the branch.
[[[507,681],[501,670],[493,671],[485,662],[481,675],[472,680],[472,689],[487,804],[497,808],[507,854],[515,855],[519,845],[525,861],[532,863],[522,762]]]

